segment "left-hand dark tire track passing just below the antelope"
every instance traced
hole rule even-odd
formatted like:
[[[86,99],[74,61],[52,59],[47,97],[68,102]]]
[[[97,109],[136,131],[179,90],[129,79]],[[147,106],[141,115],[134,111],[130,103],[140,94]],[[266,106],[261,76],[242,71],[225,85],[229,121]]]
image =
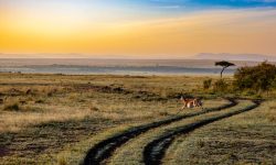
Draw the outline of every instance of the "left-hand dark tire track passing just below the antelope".
[[[104,140],[88,151],[87,155],[84,158],[83,164],[84,165],[99,165],[103,161],[110,157],[113,152],[117,147],[121,146],[130,139],[132,139],[139,134],[142,134],[151,129],[167,125],[167,124],[170,124],[170,123],[176,122],[176,121],[180,121],[180,120],[185,119],[185,118],[197,117],[197,116],[204,114],[208,112],[213,112],[213,111],[220,111],[220,110],[227,109],[227,108],[231,108],[231,107],[234,107],[237,105],[237,102],[234,99],[227,99],[227,100],[230,101],[230,103],[217,107],[217,108],[210,108],[210,109],[206,109],[206,110],[201,111],[201,112],[173,117],[173,118],[169,118],[166,120],[152,122],[149,124],[135,127],[126,132],[123,132],[123,133],[117,134],[115,136],[112,136],[107,140]]]

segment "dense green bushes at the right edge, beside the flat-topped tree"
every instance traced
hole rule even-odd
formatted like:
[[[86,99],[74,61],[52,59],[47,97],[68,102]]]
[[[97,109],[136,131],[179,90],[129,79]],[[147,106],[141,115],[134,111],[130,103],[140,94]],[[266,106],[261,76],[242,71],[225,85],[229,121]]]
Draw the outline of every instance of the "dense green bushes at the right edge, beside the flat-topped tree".
[[[225,67],[229,66],[225,64]],[[244,98],[275,98],[276,66],[267,62],[238,68],[233,78],[205,79],[205,92]]]

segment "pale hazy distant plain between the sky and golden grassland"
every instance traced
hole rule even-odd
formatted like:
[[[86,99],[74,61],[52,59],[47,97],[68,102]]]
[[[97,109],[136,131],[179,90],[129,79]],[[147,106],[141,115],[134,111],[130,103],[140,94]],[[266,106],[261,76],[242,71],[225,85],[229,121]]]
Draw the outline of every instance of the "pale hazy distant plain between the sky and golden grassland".
[[[1,58],[0,73],[66,75],[217,75],[220,66],[211,59],[95,59],[95,58]],[[259,62],[232,62],[225,74]],[[275,63],[274,63],[275,64]]]

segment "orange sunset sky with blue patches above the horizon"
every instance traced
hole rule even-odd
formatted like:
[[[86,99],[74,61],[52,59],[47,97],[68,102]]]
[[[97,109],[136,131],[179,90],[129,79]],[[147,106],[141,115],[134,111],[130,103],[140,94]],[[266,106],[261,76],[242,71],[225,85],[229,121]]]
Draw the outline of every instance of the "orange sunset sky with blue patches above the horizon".
[[[0,0],[0,53],[276,56],[276,0]]]

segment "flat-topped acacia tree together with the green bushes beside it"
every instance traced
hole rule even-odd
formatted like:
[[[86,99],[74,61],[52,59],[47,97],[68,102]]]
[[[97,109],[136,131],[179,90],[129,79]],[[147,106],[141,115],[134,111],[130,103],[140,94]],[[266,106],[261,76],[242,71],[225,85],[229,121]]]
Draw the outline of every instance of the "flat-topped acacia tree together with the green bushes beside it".
[[[256,66],[243,66],[234,73],[234,79],[226,81],[222,78],[225,68],[235,66],[230,62],[216,62],[215,66],[222,66],[221,79],[212,82],[212,79],[203,81],[203,88],[216,92],[243,92],[263,94],[276,89],[276,65],[263,62]]]

